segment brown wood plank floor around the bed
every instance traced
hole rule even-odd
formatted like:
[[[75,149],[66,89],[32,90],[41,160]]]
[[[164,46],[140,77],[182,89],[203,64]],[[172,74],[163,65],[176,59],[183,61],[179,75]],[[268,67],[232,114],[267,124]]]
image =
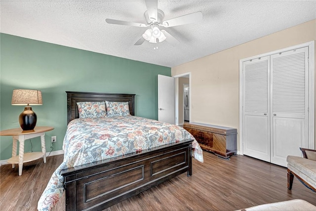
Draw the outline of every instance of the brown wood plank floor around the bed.
[[[193,159],[193,175],[181,174],[104,211],[234,211],[255,205],[303,199],[316,206],[316,193],[297,179],[287,190],[286,168],[247,156],[230,161],[203,152]],[[63,155],[26,163],[21,176],[11,165],[0,167],[0,210],[37,210],[37,203]],[[55,211],[63,211],[65,197]]]

